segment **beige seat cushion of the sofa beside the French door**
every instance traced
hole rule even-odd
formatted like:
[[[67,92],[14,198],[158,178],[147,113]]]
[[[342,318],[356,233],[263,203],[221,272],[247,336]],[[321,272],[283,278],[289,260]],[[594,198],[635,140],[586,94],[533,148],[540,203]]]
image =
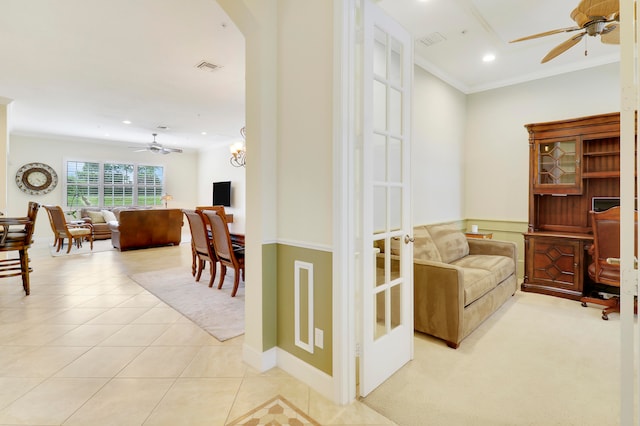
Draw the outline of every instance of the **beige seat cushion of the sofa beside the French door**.
[[[469,255],[451,262],[464,269],[464,306],[468,306],[512,275],[513,259],[507,256]]]

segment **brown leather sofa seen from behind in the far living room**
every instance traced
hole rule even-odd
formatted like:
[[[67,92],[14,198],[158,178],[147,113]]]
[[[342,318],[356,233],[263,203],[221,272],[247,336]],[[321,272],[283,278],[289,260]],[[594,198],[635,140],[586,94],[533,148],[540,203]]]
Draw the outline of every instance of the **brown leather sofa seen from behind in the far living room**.
[[[118,222],[109,222],[111,243],[120,251],[178,245],[182,238],[182,210],[121,210]]]

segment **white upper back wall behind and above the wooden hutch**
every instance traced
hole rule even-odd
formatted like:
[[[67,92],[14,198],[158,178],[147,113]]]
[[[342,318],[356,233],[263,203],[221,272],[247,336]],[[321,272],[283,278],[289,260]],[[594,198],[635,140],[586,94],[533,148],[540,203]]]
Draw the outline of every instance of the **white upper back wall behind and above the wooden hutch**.
[[[525,124],[620,111],[619,64],[468,95],[462,217],[528,220]]]

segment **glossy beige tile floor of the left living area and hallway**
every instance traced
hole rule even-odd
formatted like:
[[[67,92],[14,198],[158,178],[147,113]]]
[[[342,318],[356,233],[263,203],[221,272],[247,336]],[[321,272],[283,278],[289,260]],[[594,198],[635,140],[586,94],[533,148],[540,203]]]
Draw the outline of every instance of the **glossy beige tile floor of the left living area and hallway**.
[[[190,270],[188,244],[55,258],[48,244],[30,250],[30,296],[0,281],[1,425],[224,425],[276,395],[321,424],[394,424],[248,367],[242,336],[217,341],[129,278]]]

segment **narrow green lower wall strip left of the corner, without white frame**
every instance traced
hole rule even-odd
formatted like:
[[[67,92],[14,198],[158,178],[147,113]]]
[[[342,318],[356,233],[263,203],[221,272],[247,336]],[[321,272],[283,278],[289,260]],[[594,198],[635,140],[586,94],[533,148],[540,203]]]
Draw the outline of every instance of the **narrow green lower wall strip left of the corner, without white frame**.
[[[262,350],[265,352],[277,344],[277,258],[276,244],[262,246]]]

